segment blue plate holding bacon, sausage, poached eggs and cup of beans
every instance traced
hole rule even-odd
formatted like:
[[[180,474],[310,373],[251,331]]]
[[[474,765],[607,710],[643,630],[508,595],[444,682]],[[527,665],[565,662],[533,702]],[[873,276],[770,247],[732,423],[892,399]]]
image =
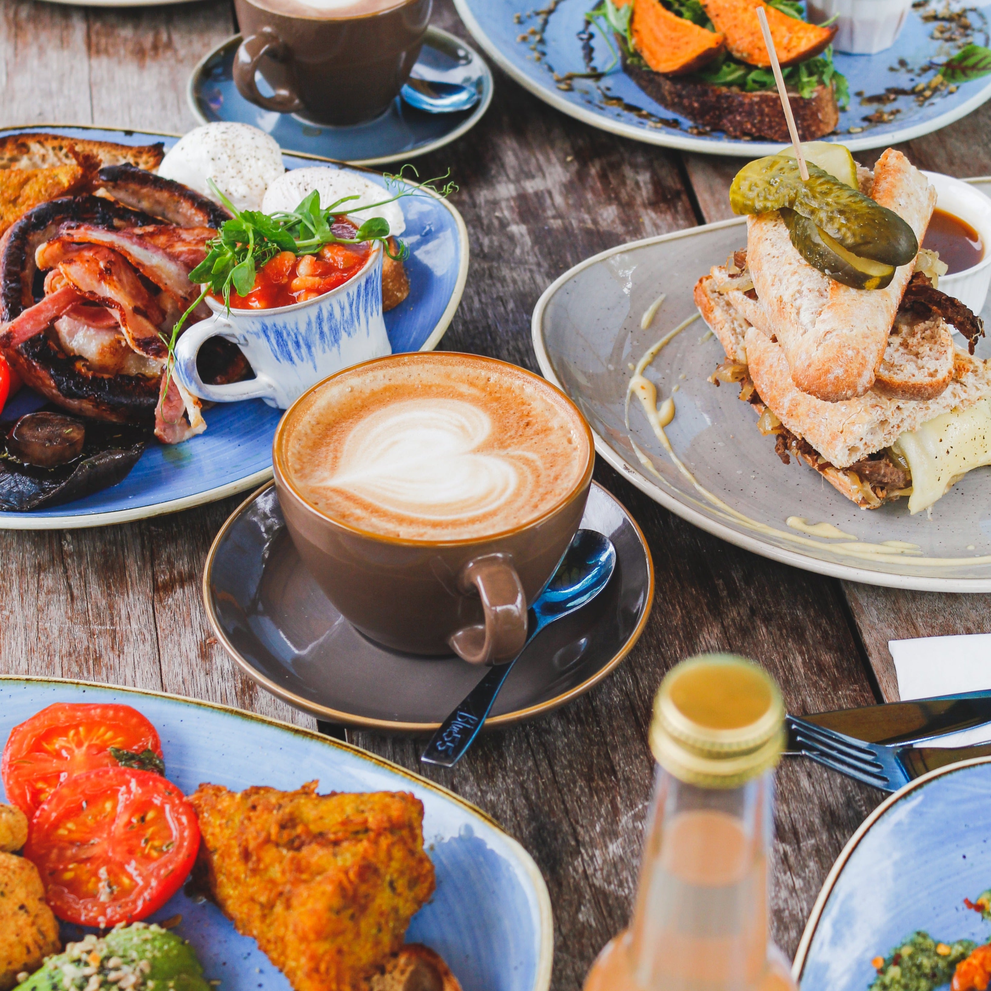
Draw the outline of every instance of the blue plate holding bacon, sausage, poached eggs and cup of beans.
[[[91,127],[5,128],[0,136],[43,131],[67,136],[169,148],[174,135]],[[286,168],[313,165],[314,157],[283,156]],[[381,176],[369,173],[385,185]],[[409,297],[385,314],[392,351],[432,351],[454,316],[468,276],[468,232],[446,200],[411,196],[402,201]],[[43,400],[24,389],[4,408],[4,418],[38,408]],[[205,433],[183,444],[153,442],[131,474],[111,489],[32,512],[0,512],[0,529],[50,530],[103,526],[144,519],[252,489],[272,477],[272,438],[281,411],[261,399],[221,403],[203,413]]]

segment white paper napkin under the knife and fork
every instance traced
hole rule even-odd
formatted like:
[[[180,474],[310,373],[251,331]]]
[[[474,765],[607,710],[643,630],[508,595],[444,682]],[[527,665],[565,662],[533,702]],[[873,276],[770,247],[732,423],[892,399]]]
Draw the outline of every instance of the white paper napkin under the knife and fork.
[[[991,690],[991,633],[889,640],[903,702]],[[991,740],[991,725],[939,737],[929,746],[966,746]]]

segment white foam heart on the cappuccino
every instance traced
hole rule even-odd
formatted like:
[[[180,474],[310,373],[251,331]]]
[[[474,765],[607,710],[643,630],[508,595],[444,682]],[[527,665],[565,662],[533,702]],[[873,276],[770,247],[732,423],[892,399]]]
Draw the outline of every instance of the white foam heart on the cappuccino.
[[[410,399],[372,413],[344,443],[328,488],[433,520],[497,513],[531,488],[533,455],[478,449],[492,418],[459,399]]]

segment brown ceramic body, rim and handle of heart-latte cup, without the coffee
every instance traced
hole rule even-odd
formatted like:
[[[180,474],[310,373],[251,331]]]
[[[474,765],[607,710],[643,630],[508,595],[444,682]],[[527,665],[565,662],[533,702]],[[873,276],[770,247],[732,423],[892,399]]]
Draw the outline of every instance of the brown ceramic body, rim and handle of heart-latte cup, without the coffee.
[[[468,539],[402,539],[362,530],[317,509],[289,475],[288,442],[314,397],[343,376],[390,362],[487,363],[553,390],[572,410],[578,447],[566,491],[536,518]],[[351,380],[353,381],[353,380]],[[571,414],[569,414],[571,415]],[[303,563],[341,614],[362,633],[394,650],[447,655],[473,664],[510,660],[526,642],[527,607],[571,544],[585,512],[595,447],[592,431],[570,399],[532,373],[492,358],[451,352],[392,355],[331,376],[303,393],[275,431],[275,489]]]

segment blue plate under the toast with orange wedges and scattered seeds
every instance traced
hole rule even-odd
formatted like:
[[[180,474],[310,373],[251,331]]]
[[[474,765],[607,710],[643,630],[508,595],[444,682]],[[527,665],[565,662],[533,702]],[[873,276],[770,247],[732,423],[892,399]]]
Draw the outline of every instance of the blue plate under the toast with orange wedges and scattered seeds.
[[[655,103],[620,69],[598,82],[593,79],[563,80],[561,77],[569,72],[605,70],[612,62],[603,36],[598,32],[587,32],[585,14],[597,7],[599,0],[557,0],[543,5],[524,3],[523,0],[454,2],[468,30],[500,68],[551,106],[586,124],[651,145],[710,155],[757,158],[781,147],[780,144],[737,141],[721,132],[693,134],[692,130],[698,129],[692,121]],[[929,3],[933,10],[945,7],[943,0],[929,0]],[[540,7],[543,9],[537,9]],[[842,142],[851,151],[895,145],[945,127],[991,97],[991,76],[985,76],[964,83],[954,93],[944,91],[924,105],[920,105],[913,95],[902,95],[889,103],[861,105],[861,97],[854,95],[857,91],[862,91],[864,97],[871,97],[884,94],[892,87],[911,89],[917,82],[936,74],[935,68],[920,74],[921,66],[931,60],[941,63],[956,52],[955,45],[931,37],[936,23],[922,20],[926,9],[913,6],[901,36],[886,52],[835,55],[836,68],[846,76],[851,95],[849,107],[840,113],[839,126],[828,140]],[[968,16],[974,27],[972,40],[978,45],[987,45],[987,22],[983,11],[969,8]],[[542,41],[531,49],[535,42],[526,33],[531,28],[540,31],[544,22]],[[570,89],[562,88],[569,86]],[[886,123],[865,120],[879,110],[891,119]],[[851,133],[850,128],[861,130]]]

